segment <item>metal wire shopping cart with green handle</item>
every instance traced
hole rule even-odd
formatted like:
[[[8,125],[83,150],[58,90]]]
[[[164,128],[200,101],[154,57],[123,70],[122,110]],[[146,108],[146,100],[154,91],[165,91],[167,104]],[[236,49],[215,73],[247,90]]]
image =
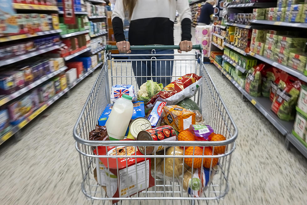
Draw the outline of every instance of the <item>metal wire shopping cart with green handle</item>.
[[[115,50],[116,46],[106,46],[105,52],[105,63],[103,64],[101,71],[98,74],[98,77],[95,81],[93,88],[86,100],[86,103],[81,111],[80,116],[75,124],[73,135],[76,140],[75,147],[79,152],[79,158],[81,163],[81,172],[82,172],[82,183],[81,190],[86,195],[88,200],[91,200],[94,203],[94,200],[103,200],[104,203],[122,203],[122,204],[134,204],[135,202],[139,204],[156,204],[167,203],[172,204],[180,202],[180,204],[194,204],[198,202],[198,204],[204,204],[206,201],[207,204],[215,204],[220,203],[221,199],[226,195],[229,191],[229,170],[231,164],[231,156],[232,152],[235,149],[235,139],[237,138],[237,127],[232,120],[221,96],[219,95],[216,86],[212,82],[212,79],[202,63],[203,52],[200,46],[193,46],[193,49],[200,50],[200,53],[195,52],[195,54],[163,54],[163,56],[167,59],[157,59],[158,54],[155,54],[156,49],[179,49],[179,46],[131,46],[131,49],[150,49],[151,55],[150,59],[146,60],[149,63],[154,64],[167,64],[173,63],[173,74],[171,76],[151,76],[151,74],[147,74],[147,78],[171,78],[171,80],[175,80],[186,73],[196,73],[199,76],[202,76],[202,82],[200,89],[196,93],[196,95],[192,98],[195,102],[198,103],[201,113],[203,115],[203,120],[206,125],[210,125],[215,133],[220,133],[226,137],[224,141],[91,141],[88,140],[89,132],[95,129],[95,125],[97,124],[98,118],[101,113],[105,109],[106,105],[110,103],[110,88],[114,84],[132,84],[138,91],[139,87],[136,83],[136,77],[133,74],[132,63],[133,61],[140,61],[141,55],[121,55],[121,54],[111,54],[108,53],[108,50]],[[123,56],[139,56],[138,60],[122,60]],[[161,56],[161,55],[160,55]],[[121,59],[121,60],[117,60]],[[144,60],[143,60],[144,61]],[[139,68],[140,69],[140,68]],[[138,78],[145,76],[138,76]],[[119,122],[120,123],[120,122]],[[156,165],[158,160],[168,158],[180,159],[182,163],[184,163],[184,159],[188,157],[193,157],[191,155],[166,155],[166,150],[169,147],[179,146],[182,148],[194,147],[193,155],[195,152],[195,147],[208,147],[211,146],[212,149],[217,146],[226,146],[226,150],[224,154],[214,155],[214,158],[218,158],[218,165],[215,167],[212,166],[213,158],[212,155],[197,156],[201,158],[201,163],[203,160],[210,159],[210,173],[209,176],[213,177],[206,189],[200,192],[200,196],[191,197],[183,186],[184,177],[178,176],[179,174],[175,173],[175,169],[173,169],[173,177],[169,179],[169,177],[158,177],[156,173],[159,170],[165,174],[165,171],[169,171],[169,167],[164,170],[161,170],[161,166]],[[99,146],[116,146],[116,148],[121,148],[125,150],[125,154],[127,153],[127,147],[133,147],[135,150],[138,146],[165,146],[164,152],[159,153],[154,152],[153,154],[145,154],[144,155],[133,155],[133,159],[143,158],[146,163],[142,164],[142,168],[137,165],[135,162],[135,170],[133,168],[131,173],[131,168],[125,168],[118,171],[118,163],[117,163],[117,175],[115,178],[112,178],[110,175],[110,169],[108,167],[109,160],[114,158],[120,159],[131,159],[131,155],[110,155],[109,153],[105,155],[96,155],[93,150],[98,149]],[[100,159],[107,159],[107,166],[105,168],[101,168]],[[151,160],[151,163],[148,161]],[[195,158],[196,160],[196,158]],[[166,160],[163,160],[165,163]],[[194,159],[193,159],[194,162]],[[127,163],[127,160],[126,160]],[[151,166],[151,170],[149,170],[149,165]],[[113,164],[114,165],[114,164]],[[161,165],[161,164],[160,164]],[[174,164],[175,166],[175,164]],[[174,168],[173,166],[173,168]],[[194,166],[194,164],[193,164]],[[191,173],[193,173],[196,169],[192,166]],[[180,167],[180,166],[179,166]],[[180,173],[184,173],[186,171],[186,167],[182,166],[182,170]],[[181,169],[180,167],[180,169]],[[106,177],[106,182],[104,182],[105,186],[100,186],[102,183],[100,180],[97,180],[100,176],[100,170],[104,169],[105,173],[108,177]],[[178,169],[178,170],[180,170]],[[129,173],[128,173],[129,171]],[[213,174],[213,172],[215,174]],[[144,174],[145,173],[145,174]],[[110,175],[109,175],[110,174]],[[143,175],[142,175],[143,174]],[[148,174],[152,174],[154,180],[154,186],[149,187],[148,185]],[[140,175],[144,176],[141,177]],[[176,175],[176,176],[175,176]],[[113,175],[112,175],[113,176]],[[190,180],[193,181],[193,175],[191,174]],[[202,176],[200,176],[202,177]],[[115,186],[118,187],[118,194],[116,197],[112,195],[111,184],[114,183]],[[112,180],[112,182],[111,182]],[[100,181],[98,184],[97,181]],[[141,181],[141,182],[140,182]],[[144,182],[145,181],[145,182]],[[127,183],[128,182],[128,183]],[[140,188],[138,184],[143,184]],[[136,188],[134,186],[136,184]],[[193,184],[193,183],[192,183]],[[103,185],[103,184],[102,184]],[[129,187],[128,187],[129,185]],[[130,186],[133,185],[133,186]],[[191,186],[191,184],[189,184]],[[116,188],[116,187],[115,187]],[[193,188],[193,187],[192,187]],[[114,188],[113,188],[114,189]],[[194,188],[193,188],[194,189]],[[136,193],[136,194],[134,194]],[[130,197],[129,197],[130,196]],[[205,200],[205,201],[204,201]],[[151,202],[152,201],[152,202]]]

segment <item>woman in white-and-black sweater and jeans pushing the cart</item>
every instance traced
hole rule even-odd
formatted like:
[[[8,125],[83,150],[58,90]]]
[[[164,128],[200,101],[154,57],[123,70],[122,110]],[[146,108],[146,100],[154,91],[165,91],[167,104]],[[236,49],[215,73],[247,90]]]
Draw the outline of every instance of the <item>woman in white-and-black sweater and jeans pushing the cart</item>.
[[[191,11],[188,0],[117,0],[112,13],[112,25],[116,46],[120,52],[141,54],[130,59],[150,59],[151,50],[132,50],[131,45],[174,45],[174,21],[176,9],[181,18],[181,51],[191,51]],[[129,13],[129,41],[123,32],[124,13]],[[174,54],[174,50],[156,50],[156,54]],[[157,59],[174,59],[170,56],[156,56]],[[171,76],[173,61],[132,61],[135,76]],[[150,77],[136,77],[141,86]],[[152,77],[163,86],[171,83],[171,77]]]

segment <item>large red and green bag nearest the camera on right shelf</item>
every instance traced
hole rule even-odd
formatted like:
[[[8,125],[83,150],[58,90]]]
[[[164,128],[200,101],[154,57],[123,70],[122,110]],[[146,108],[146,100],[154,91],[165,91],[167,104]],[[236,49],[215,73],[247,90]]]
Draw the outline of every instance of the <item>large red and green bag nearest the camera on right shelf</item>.
[[[288,74],[280,76],[271,107],[279,119],[284,121],[294,120],[295,105],[297,104],[300,88],[301,82],[297,78]]]

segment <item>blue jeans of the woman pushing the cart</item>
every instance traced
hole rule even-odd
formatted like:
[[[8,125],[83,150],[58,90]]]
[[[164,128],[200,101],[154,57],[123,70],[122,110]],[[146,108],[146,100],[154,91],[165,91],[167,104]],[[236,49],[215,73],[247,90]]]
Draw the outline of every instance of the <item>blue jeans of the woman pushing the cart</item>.
[[[131,50],[131,54],[139,54],[142,56],[130,56],[129,59],[136,59],[139,61],[132,61],[133,73],[136,77],[138,87],[140,87],[147,80],[162,83],[163,87],[171,83],[171,77],[142,77],[142,76],[171,76],[173,73],[174,61],[163,61],[161,59],[174,59],[174,56],[155,56],[157,61],[150,60],[151,50]],[[174,54],[174,50],[156,50],[156,54]]]

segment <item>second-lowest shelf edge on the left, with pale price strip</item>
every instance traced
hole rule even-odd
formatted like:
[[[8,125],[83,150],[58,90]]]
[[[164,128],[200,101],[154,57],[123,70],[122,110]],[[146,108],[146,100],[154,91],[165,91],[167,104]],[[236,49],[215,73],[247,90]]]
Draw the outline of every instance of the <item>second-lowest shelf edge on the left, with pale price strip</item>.
[[[17,98],[18,96],[20,96],[20,95],[26,93],[26,92],[29,91],[30,89],[32,89],[32,88],[38,86],[39,84],[45,82],[46,80],[48,80],[48,79],[54,77],[54,76],[57,75],[57,74],[59,74],[59,73],[65,71],[66,69],[67,69],[66,66],[61,67],[59,70],[54,71],[54,72],[52,72],[52,73],[49,73],[48,75],[45,75],[45,76],[42,77],[42,78],[39,78],[38,80],[36,80],[36,81],[34,81],[33,83],[29,84],[28,86],[24,87],[23,89],[20,89],[20,90],[14,92],[14,93],[12,93],[12,94],[9,94],[9,95],[4,96],[3,98],[0,99],[0,106],[2,106],[2,105],[4,105],[4,104],[8,103],[9,101],[11,101],[11,100]]]

